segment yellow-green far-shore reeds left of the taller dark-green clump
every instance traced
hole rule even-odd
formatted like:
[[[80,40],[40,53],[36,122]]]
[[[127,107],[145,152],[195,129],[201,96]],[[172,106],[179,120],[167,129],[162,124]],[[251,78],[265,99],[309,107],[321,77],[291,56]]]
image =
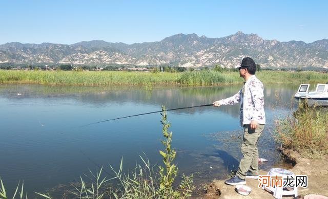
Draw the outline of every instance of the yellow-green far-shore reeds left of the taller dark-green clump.
[[[51,85],[145,85],[175,84],[175,73],[140,73],[112,71],[5,71],[0,70],[2,83],[38,83]]]

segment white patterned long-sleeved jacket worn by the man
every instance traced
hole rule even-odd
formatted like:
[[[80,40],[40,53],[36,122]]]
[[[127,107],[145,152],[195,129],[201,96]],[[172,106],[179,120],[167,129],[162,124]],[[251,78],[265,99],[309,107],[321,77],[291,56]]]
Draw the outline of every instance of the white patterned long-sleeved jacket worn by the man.
[[[265,124],[264,95],[262,82],[252,75],[242,89],[234,96],[221,100],[224,105],[240,102],[240,125],[250,124],[252,120]]]

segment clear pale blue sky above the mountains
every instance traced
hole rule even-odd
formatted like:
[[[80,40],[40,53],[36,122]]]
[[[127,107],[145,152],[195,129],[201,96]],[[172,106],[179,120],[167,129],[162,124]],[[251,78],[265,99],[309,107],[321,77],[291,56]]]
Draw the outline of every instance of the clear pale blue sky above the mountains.
[[[328,38],[328,1],[0,1],[0,44],[159,41],[178,33]]]

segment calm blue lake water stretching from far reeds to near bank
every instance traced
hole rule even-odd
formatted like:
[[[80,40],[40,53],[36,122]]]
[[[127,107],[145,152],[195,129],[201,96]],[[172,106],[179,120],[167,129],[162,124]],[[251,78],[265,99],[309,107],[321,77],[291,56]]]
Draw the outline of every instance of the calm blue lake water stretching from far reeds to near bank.
[[[241,85],[216,87],[76,87],[0,85],[0,176],[8,190],[24,180],[25,190],[44,191],[79,179],[88,169],[109,164],[125,170],[141,162],[162,164],[159,113],[83,125],[169,108],[209,104],[237,93]],[[271,132],[274,120],[290,111],[298,85],[265,85],[267,125],[259,142],[261,158],[279,163]],[[241,158],[239,105],[168,112],[179,174],[194,181],[225,179]],[[157,166],[156,166],[157,168]]]

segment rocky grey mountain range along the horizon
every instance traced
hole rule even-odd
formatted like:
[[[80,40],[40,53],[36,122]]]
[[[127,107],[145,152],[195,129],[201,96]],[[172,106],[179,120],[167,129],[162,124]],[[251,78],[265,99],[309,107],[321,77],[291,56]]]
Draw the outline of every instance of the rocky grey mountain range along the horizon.
[[[221,38],[176,34],[161,41],[133,43],[81,41],[72,45],[10,42],[0,45],[0,63],[123,64],[231,68],[250,56],[264,68],[328,68],[328,39],[305,43],[265,40],[237,32]]]

